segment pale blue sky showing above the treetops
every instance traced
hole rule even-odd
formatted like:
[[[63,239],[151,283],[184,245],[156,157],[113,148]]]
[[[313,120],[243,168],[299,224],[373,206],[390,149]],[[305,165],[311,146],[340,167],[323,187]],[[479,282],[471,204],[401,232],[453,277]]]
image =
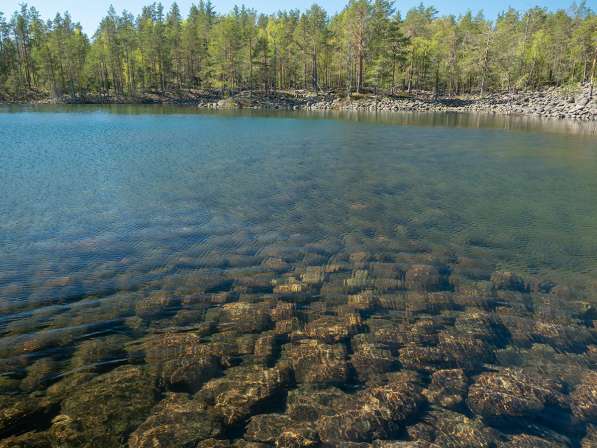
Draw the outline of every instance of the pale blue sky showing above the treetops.
[[[0,11],[9,16],[14,10],[19,7],[23,0],[0,0]],[[197,2],[196,0],[195,2]],[[78,20],[83,25],[85,32],[92,34],[95,31],[101,17],[105,14],[110,4],[118,12],[123,9],[131,11],[137,15],[143,5],[152,3],[153,0],[30,0],[29,3],[35,6],[44,18],[53,17],[56,12],[69,11],[75,20]],[[162,0],[162,3],[168,8],[172,1]],[[178,0],[178,5],[181,7],[183,14],[186,15],[192,0]],[[212,0],[218,12],[229,11],[235,4],[244,4],[247,7],[254,8],[259,12],[275,12],[280,9],[308,8],[313,0],[291,0],[291,1],[274,1],[274,0]],[[347,3],[345,0],[320,0],[319,3],[328,12],[334,13],[342,9]],[[402,12],[416,6],[420,0],[402,0],[397,1],[398,9]],[[480,2],[478,0],[433,0],[425,1],[426,5],[435,6],[440,14],[456,14],[466,12],[471,9],[476,12],[482,9],[487,17],[493,18],[498,12],[503,11],[508,5],[513,5],[517,9],[527,9],[536,5],[548,7],[549,9],[567,9],[572,0],[515,0],[515,1],[500,1],[500,0],[486,0]],[[597,9],[597,0],[588,0],[587,5],[593,9]]]

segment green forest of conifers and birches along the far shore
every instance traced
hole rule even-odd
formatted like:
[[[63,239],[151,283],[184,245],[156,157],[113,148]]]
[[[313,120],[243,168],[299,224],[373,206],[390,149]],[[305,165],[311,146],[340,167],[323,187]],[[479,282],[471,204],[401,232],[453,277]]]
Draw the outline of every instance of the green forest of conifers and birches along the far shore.
[[[140,15],[113,7],[93,36],[68,13],[44,20],[22,5],[0,12],[0,96],[139,96],[183,89],[395,91],[443,95],[587,82],[597,51],[597,15],[586,4],[555,12],[512,8],[403,16],[388,0],[350,0],[330,16],[318,5],[259,14],[217,14],[200,0]]]

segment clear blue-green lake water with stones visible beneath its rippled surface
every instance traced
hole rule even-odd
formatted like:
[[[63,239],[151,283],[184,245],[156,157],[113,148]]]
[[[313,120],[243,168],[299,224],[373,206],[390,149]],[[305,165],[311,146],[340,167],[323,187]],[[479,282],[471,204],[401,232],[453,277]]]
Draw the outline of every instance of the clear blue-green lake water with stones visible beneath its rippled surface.
[[[596,134],[2,109],[0,446],[591,446]]]

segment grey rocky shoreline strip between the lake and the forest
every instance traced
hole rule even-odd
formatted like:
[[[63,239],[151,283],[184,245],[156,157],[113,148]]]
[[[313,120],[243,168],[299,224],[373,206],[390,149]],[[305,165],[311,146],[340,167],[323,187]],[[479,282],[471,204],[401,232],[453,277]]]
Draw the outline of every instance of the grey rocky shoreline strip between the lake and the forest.
[[[597,121],[597,93],[589,86],[576,92],[542,91],[492,93],[480,96],[435,97],[430,92],[395,95],[314,93],[307,91],[249,92],[184,91],[138,97],[88,96],[49,98],[32,95],[21,100],[0,98],[0,104],[180,104],[206,109],[363,111],[363,112],[485,112]]]

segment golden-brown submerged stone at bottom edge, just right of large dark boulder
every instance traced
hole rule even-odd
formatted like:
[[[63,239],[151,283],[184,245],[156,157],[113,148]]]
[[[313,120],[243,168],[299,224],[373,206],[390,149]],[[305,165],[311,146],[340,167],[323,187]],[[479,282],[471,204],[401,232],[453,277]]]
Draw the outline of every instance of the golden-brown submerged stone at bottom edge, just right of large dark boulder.
[[[203,403],[169,394],[129,437],[129,448],[178,448],[219,435],[222,424]]]

